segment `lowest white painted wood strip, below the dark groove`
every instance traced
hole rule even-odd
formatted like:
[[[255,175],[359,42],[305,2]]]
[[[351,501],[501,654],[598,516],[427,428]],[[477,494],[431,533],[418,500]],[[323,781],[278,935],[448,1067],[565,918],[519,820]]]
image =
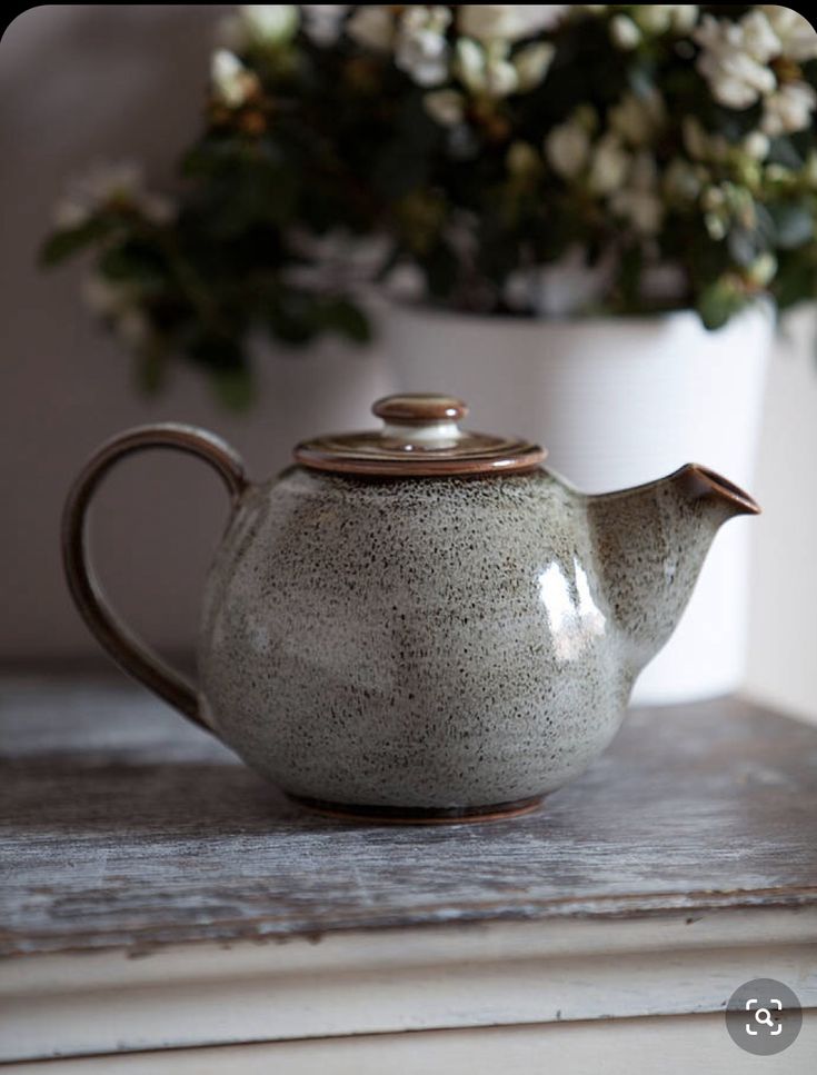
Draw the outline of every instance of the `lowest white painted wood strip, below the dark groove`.
[[[775,1057],[741,1053],[720,1015],[382,1034],[14,1064],[8,1075],[814,1075],[817,1012]]]

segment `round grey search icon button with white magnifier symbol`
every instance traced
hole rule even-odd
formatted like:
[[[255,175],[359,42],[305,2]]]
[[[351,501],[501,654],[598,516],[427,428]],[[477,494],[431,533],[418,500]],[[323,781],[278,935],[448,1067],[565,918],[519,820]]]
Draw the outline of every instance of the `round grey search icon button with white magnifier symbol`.
[[[801,1026],[803,1008],[797,994],[776,978],[745,982],[726,1006],[729,1037],[755,1056],[783,1053]]]

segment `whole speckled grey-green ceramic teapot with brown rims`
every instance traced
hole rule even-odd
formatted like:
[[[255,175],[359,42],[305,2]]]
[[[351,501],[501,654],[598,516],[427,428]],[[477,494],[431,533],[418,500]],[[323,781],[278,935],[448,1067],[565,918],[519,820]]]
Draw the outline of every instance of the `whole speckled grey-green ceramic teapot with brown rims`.
[[[403,822],[531,809],[607,746],[718,527],[759,508],[697,465],[584,495],[537,445],[460,429],[454,398],[373,410],[380,430],[307,440],[261,485],[190,426],[116,437],[66,506],[74,600],[126,670],[307,807]],[[203,459],[232,504],[196,689],[116,618],[88,563],[100,478],[152,447]]]

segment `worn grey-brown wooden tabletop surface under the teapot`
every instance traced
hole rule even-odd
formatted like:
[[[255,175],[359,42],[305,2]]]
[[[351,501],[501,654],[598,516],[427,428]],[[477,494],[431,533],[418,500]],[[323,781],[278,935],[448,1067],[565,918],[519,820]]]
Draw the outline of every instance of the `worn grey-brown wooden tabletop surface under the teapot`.
[[[817,905],[817,730],[737,699],[634,710],[527,817],[301,813],[114,676],[0,679],[0,954]]]

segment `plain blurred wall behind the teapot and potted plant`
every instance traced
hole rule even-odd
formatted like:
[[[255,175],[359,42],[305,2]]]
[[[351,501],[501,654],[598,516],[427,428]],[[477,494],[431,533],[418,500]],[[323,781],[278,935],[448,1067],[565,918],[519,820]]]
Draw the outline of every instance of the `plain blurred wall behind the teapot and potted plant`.
[[[282,466],[300,437],[367,424],[388,388],[377,356],[323,347],[262,356],[250,419],[215,407],[179,372],[139,397],[118,345],[79,301],[78,269],[42,275],[34,250],[64,180],[89,161],[146,162],[158,183],[195,135],[219,6],[44,6],[0,42],[2,341],[0,656],[94,653],[69,604],[58,556],[64,491],[103,438],[140,421],[207,425],[245,454],[250,474]],[[787,326],[773,364],[760,472],[747,689],[817,719],[817,326]],[[456,386],[452,386],[456,389]],[[475,425],[479,416],[475,415]],[[100,496],[100,573],[122,613],[166,650],[193,637],[198,593],[225,515],[205,468],[171,456],[122,465]]]

